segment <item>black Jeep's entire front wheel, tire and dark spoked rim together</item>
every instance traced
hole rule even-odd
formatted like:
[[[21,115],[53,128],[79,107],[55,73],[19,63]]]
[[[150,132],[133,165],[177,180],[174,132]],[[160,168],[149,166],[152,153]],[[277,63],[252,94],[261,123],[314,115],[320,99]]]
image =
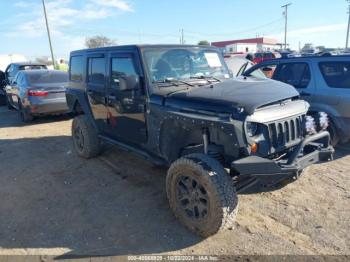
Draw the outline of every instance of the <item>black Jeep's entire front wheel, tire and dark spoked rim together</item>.
[[[168,170],[166,191],[175,216],[192,232],[208,237],[233,227],[236,190],[215,159],[203,154],[178,159]]]

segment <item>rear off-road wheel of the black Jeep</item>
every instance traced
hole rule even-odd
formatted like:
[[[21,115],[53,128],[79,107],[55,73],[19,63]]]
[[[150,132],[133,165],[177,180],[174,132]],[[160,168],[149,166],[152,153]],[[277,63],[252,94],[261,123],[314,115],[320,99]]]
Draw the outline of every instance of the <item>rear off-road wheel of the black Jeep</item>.
[[[78,141],[77,133],[81,135],[82,141]],[[79,115],[72,123],[72,139],[74,149],[80,157],[89,159],[100,154],[100,140],[96,128],[92,125],[86,115]]]

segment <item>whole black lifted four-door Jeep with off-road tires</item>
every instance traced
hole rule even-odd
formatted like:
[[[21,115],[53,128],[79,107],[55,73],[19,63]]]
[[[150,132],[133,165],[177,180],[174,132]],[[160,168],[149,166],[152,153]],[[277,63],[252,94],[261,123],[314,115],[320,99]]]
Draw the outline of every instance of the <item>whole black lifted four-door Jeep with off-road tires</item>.
[[[69,73],[77,153],[95,157],[107,141],[170,166],[170,207],[201,236],[233,226],[237,191],[296,178],[333,155],[324,113],[307,116],[308,103],[287,84],[232,79],[216,48],[74,51]]]

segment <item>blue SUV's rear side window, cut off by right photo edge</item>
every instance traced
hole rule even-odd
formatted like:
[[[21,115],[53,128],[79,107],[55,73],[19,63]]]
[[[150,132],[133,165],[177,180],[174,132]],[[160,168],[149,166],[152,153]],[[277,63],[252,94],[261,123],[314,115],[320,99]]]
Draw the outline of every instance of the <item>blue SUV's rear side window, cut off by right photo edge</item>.
[[[350,62],[322,62],[319,66],[329,87],[350,88]]]

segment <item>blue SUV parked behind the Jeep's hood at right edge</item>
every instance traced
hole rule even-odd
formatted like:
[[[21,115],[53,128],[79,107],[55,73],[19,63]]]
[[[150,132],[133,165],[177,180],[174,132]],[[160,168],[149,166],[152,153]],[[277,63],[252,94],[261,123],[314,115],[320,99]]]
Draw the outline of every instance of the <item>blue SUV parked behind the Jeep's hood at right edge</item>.
[[[270,78],[294,86],[311,105],[309,114],[330,117],[332,144],[350,139],[350,56],[308,56],[275,59],[244,75]]]

